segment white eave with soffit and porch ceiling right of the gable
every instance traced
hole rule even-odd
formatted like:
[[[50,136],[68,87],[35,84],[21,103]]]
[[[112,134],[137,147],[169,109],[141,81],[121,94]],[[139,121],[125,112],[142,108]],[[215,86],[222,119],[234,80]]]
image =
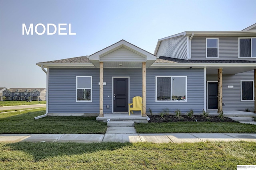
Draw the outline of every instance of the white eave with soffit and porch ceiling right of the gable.
[[[154,63],[150,68],[204,68],[207,74],[218,74],[222,68],[223,74],[237,74],[256,69],[255,63]]]

